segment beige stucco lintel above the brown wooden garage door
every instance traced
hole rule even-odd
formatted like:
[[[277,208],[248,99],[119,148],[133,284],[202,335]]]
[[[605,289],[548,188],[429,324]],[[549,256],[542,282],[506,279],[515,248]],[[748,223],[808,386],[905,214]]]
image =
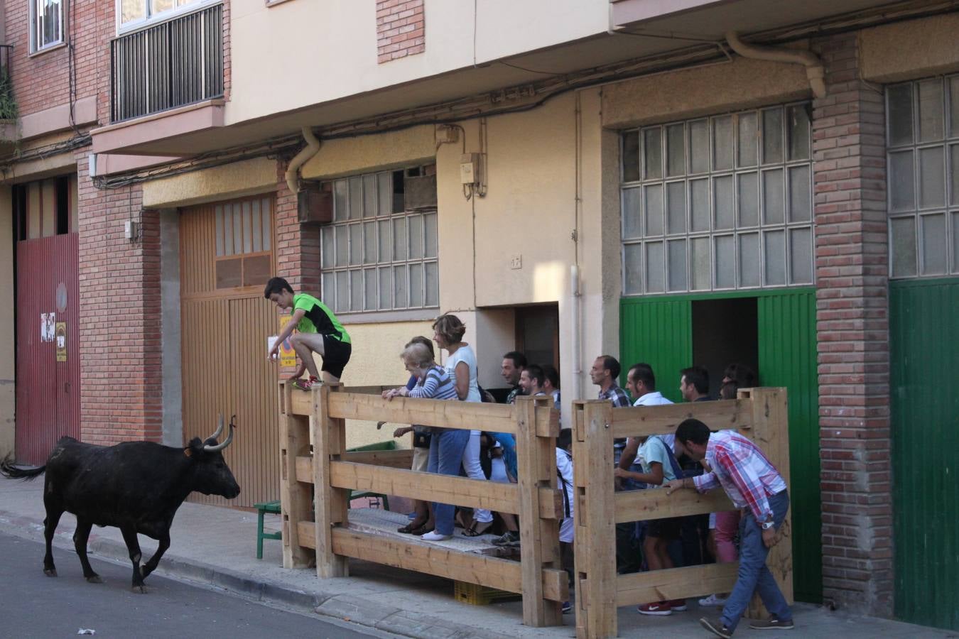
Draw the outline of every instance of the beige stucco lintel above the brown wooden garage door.
[[[276,161],[266,157],[143,183],[143,206],[190,206],[276,188]]]

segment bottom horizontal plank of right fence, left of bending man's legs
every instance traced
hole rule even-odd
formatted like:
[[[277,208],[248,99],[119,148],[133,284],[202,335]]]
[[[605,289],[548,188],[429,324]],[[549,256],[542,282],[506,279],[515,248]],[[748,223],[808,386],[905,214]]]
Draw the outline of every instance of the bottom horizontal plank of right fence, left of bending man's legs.
[[[739,562],[734,561],[620,575],[616,578],[616,605],[648,604],[730,592],[738,570]]]

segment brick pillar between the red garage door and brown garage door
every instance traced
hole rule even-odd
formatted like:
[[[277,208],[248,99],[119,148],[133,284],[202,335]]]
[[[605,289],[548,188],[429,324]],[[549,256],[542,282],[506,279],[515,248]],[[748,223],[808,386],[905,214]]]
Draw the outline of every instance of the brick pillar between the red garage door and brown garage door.
[[[138,186],[98,190],[78,153],[81,437],[94,444],[162,437],[160,233]],[[141,239],[124,223],[141,222]]]

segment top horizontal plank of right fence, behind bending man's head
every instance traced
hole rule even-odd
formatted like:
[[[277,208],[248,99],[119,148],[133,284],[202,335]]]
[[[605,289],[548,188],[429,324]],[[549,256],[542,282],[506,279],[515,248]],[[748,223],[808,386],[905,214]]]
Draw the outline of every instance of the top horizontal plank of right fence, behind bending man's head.
[[[675,433],[676,427],[690,418],[713,430],[746,429],[753,425],[748,399],[693,401],[662,406],[637,406],[613,409],[613,437],[643,437]]]

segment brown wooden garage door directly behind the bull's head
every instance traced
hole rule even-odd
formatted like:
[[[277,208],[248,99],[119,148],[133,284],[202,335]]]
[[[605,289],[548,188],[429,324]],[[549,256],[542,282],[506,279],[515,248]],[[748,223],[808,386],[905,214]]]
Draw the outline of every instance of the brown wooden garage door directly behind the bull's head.
[[[251,506],[279,498],[276,368],[266,359],[276,309],[263,299],[273,272],[273,199],[259,195],[184,209],[180,216],[183,436],[237,416],[226,462],[240,496],[192,500]]]

